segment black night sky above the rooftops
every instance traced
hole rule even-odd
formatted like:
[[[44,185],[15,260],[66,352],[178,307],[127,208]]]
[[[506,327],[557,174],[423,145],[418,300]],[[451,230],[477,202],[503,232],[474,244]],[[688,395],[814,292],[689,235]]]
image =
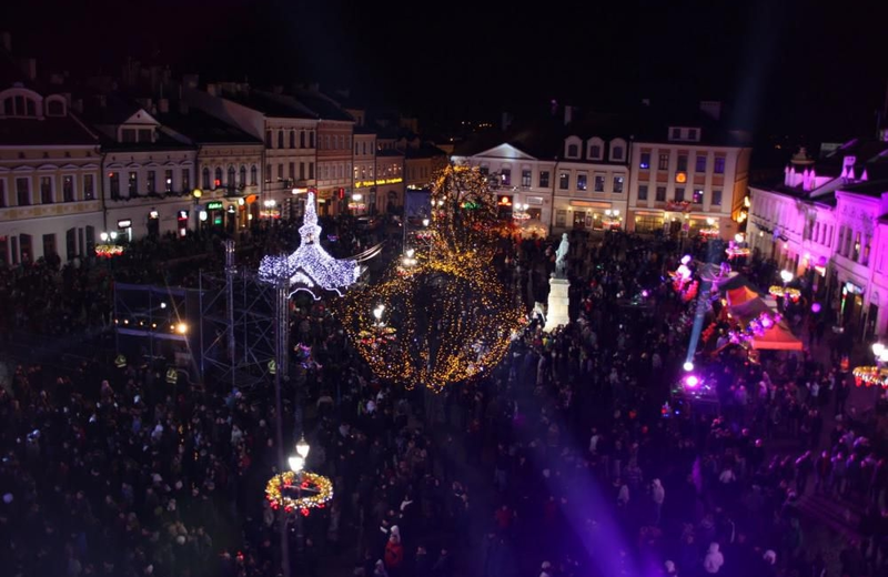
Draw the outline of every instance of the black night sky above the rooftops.
[[[875,126],[888,81],[882,2],[10,3],[17,52],[67,69],[117,70],[132,54],[254,84],[315,79],[422,118],[495,118],[553,98],[720,99],[763,133],[845,136]]]

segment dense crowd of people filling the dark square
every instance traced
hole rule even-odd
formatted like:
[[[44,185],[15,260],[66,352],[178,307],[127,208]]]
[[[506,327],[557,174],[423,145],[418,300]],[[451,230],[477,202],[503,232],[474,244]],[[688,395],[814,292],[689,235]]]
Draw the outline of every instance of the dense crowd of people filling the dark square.
[[[346,254],[376,240],[350,234]],[[323,301],[293,312],[304,353],[280,409],[271,383],[19,366],[0,391],[9,574],[278,575],[283,524],[294,575],[825,577],[834,556],[835,575],[888,575],[885,446],[874,416],[846,409],[847,373],[728,347],[696,360],[713,403],[676,395],[693,321],[667,282],[679,244],[608,232],[571,246],[572,322],[544,332],[529,315],[500,366],[441,395],[376,378]],[[531,288],[528,311],[554,249],[515,239],[495,260]],[[47,266],[17,306],[82,282]],[[304,517],[264,498],[302,433],[335,494]],[[800,504],[817,492],[866,510],[856,537],[806,540]]]

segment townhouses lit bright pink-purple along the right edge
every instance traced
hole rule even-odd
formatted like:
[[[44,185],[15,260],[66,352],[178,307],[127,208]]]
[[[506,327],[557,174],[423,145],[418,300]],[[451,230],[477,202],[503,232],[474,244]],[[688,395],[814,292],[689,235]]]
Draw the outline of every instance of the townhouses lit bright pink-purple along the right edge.
[[[888,328],[888,142],[855,139],[821,159],[801,150],[783,182],[750,186],[753,253],[803,279],[855,337]]]

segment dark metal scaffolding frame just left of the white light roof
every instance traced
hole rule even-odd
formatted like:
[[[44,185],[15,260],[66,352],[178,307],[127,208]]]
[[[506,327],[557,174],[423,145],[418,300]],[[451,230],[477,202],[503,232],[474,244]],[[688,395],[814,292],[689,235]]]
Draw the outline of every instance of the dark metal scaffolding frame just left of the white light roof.
[[[249,388],[274,372],[286,371],[286,335],[276,330],[286,322],[286,296],[262,283],[252,271],[239,270],[234,261],[234,241],[225,241],[223,275],[200,274],[201,375],[231,387]],[[283,337],[281,344],[279,340]],[[281,356],[283,346],[284,357]]]

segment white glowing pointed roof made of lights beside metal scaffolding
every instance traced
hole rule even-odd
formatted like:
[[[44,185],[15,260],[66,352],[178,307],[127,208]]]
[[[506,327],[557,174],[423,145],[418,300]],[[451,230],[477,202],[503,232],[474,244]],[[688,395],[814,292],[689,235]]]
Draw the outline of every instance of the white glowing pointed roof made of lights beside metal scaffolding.
[[[351,286],[362,273],[357,259],[339,260],[321,246],[321,226],[314,209],[314,193],[310,192],[305,202],[305,216],[299,229],[300,245],[293,254],[265,255],[259,264],[259,277],[268,283],[286,282],[292,292],[305,291],[314,300],[321,298],[317,290],[333,291],[342,296],[342,291]]]

